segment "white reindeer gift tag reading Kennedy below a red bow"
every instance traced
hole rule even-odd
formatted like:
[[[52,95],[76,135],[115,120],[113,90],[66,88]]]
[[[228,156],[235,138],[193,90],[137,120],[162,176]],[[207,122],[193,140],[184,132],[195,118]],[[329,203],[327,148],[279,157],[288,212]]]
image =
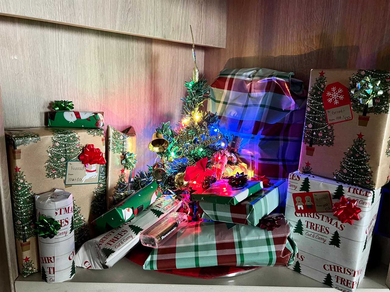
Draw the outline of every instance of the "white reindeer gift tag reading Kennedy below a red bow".
[[[68,161],[66,164],[65,185],[88,185],[99,183],[100,164],[85,167],[80,160]]]

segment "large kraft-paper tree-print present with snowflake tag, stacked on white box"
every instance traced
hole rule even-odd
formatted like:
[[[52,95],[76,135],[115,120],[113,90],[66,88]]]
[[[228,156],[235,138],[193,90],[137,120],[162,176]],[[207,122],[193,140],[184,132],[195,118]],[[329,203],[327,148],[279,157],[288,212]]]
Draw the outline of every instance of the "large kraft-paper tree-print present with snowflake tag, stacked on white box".
[[[362,188],[385,185],[389,97],[390,71],[313,69],[300,171]]]

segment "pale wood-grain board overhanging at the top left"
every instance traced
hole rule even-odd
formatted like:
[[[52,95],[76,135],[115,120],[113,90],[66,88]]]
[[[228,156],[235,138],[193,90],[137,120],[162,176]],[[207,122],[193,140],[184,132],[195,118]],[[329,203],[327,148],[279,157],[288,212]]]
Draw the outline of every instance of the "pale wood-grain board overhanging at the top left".
[[[225,47],[226,0],[2,0],[0,14]]]

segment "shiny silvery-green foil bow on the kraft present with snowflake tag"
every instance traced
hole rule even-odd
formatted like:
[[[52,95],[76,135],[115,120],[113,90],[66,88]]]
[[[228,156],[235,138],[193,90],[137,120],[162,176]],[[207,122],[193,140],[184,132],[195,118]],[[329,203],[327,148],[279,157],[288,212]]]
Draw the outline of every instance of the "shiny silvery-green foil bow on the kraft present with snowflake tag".
[[[372,80],[371,76],[365,76],[363,80],[356,83],[355,88],[351,89],[351,93],[361,104],[372,107],[374,106],[373,100],[383,95],[383,90],[379,87],[380,83],[380,80]]]

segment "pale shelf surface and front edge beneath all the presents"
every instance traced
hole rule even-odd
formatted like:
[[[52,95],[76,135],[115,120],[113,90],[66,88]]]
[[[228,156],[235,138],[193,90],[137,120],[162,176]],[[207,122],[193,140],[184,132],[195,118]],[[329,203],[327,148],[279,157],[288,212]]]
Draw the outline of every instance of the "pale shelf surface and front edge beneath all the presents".
[[[378,265],[366,271],[358,292],[389,292],[386,286],[388,267]],[[194,285],[190,287],[189,285]],[[48,284],[35,273],[27,278],[19,276],[16,292],[302,292],[336,291],[316,280],[285,267],[260,267],[246,274],[215,279],[199,279],[156,271],[144,271],[141,266],[124,258],[110,269],[77,268],[70,281]],[[158,290],[157,290],[158,289]],[[261,290],[259,290],[261,289]],[[0,289],[1,290],[1,289]],[[154,291],[153,291],[154,290]]]

